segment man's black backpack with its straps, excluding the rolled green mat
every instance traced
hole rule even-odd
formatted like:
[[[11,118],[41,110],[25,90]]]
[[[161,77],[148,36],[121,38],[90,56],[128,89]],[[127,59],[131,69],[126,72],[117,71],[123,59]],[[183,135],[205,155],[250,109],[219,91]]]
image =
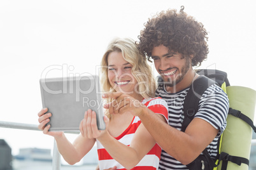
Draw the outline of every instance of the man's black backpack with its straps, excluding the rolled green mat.
[[[222,72],[220,70],[210,70],[210,69],[197,70],[197,74],[199,74],[200,76],[192,83],[192,86],[190,86],[190,89],[188,90],[187,96],[185,97],[185,100],[184,100],[184,105],[183,105],[184,120],[181,126],[181,131],[183,132],[187,128],[188,124],[192,121],[192,119],[194,119],[194,115],[196,114],[199,107],[199,100],[203,95],[204,91],[208,87],[210,87],[212,84],[217,84],[225,91],[225,93],[227,93],[226,88],[230,86],[229,80],[227,79],[227,73]],[[253,92],[253,99],[255,101],[256,93],[253,90],[252,92]],[[230,97],[229,97],[229,101],[231,102]],[[254,110],[255,102],[254,103],[252,102],[252,105],[253,105],[252,110]],[[253,126],[253,121],[247,115],[241,113],[239,110],[231,108],[230,106],[228,118],[230,116],[231,117],[234,116],[245,121],[248,125],[250,125],[250,127],[252,127],[253,131],[255,131],[256,133],[256,128],[255,126]],[[231,121],[227,119],[227,126],[229,126],[230,122]],[[227,128],[225,131],[227,131]],[[221,152],[220,148],[222,147],[222,143],[223,143],[222,139],[223,139],[223,136],[225,136],[225,131],[218,141],[217,160],[211,159],[207,150],[204,149],[203,155],[199,155],[199,157],[197,157],[197,159],[194,160],[192,163],[188,164],[187,167],[189,169],[217,169],[218,168],[221,170],[225,170],[225,169],[229,169],[227,168],[228,162],[232,162],[236,164],[236,166],[241,166],[241,164],[249,165],[249,160],[245,157],[239,157],[237,155],[230,155],[229,153]],[[250,141],[251,140],[252,140],[252,134],[250,137]],[[234,150],[236,150],[236,148],[234,148]],[[234,168],[232,168],[232,170],[233,169]]]

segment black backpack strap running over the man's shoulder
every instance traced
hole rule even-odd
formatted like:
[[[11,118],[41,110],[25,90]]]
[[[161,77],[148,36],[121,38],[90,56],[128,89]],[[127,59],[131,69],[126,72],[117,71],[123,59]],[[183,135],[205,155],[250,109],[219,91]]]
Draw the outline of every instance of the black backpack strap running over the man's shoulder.
[[[184,119],[182,122],[181,131],[184,132],[188,124],[192,121],[192,119],[194,119],[194,115],[199,107],[199,100],[201,96],[212,84],[215,84],[215,81],[208,79],[204,75],[200,75],[194,82],[192,82],[183,104]]]

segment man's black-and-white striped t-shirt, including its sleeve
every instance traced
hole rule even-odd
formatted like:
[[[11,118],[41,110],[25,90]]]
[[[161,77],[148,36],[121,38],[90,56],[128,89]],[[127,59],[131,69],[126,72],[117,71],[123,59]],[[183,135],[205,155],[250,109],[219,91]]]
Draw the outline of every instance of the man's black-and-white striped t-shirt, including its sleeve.
[[[169,125],[181,131],[181,124],[184,119],[183,103],[188,89],[178,93],[167,93],[163,84],[159,84],[155,95],[166,100],[169,112]],[[218,138],[227,126],[226,118],[229,110],[229,100],[225,92],[216,84],[211,85],[199,101],[199,110],[195,117],[209,122],[219,132],[215,139],[208,145],[207,150],[211,157],[217,156]],[[181,164],[178,160],[171,157],[162,150],[159,169],[187,169],[187,166]]]

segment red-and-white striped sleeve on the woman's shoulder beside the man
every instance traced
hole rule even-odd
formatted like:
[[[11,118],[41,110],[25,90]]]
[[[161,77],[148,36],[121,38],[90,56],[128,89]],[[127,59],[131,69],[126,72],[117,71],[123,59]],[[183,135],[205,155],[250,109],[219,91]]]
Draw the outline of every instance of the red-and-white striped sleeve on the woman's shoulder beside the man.
[[[163,115],[164,118],[166,118],[166,122],[168,123],[169,121],[169,116],[168,116],[168,106],[165,100],[163,100],[160,97],[153,98],[149,102],[146,103],[147,107],[152,110],[155,114],[160,114]]]

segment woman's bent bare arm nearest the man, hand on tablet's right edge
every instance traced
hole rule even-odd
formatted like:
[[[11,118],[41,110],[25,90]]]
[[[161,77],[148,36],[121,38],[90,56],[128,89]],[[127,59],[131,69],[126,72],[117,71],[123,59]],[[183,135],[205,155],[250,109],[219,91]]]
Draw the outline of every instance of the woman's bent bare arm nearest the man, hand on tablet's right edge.
[[[89,110],[87,112],[87,122],[90,123],[91,129],[88,131],[87,126],[87,135],[91,138],[97,138],[108,151],[108,153],[117,160],[125,169],[131,169],[136,166],[139,161],[152,149],[155,145],[155,140],[152,138],[150,133],[146,130],[143,124],[140,124],[136,133],[131,141],[131,145],[127,146],[123,143],[120,143],[118,140],[113,138],[108,131],[98,131],[96,124],[96,113]],[[159,115],[160,119],[166,122],[166,119]],[[88,121],[89,120],[89,121]],[[108,128],[109,120],[107,117],[104,117],[106,122],[106,128]],[[87,124],[88,125],[88,124]],[[89,134],[89,132],[92,134]],[[125,154],[124,154],[125,153]]]

